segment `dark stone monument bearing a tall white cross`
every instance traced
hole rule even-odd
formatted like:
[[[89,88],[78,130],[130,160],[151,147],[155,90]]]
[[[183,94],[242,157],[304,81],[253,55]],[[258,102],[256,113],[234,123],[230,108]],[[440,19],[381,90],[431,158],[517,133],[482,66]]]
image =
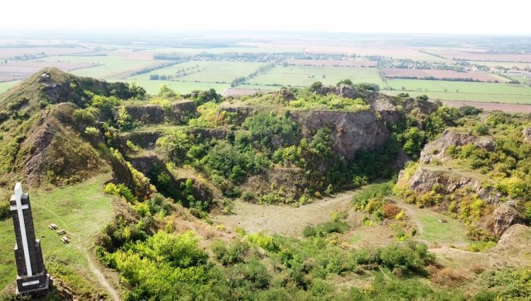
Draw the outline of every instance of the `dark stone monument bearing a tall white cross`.
[[[46,273],[40,240],[35,239],[30,195],[22,193],[22,184],[16,183],[15,194],[9,201],[15,227],[15,261],[18,271],[17,293],[45,295],[50,291],[50,275]]]

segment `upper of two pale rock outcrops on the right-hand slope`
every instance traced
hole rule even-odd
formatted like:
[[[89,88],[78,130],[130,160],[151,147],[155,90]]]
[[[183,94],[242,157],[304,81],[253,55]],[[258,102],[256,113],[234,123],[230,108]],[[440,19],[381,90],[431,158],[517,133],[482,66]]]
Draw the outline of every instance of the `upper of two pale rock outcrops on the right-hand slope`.
[[[488,152],[494,152],[496,150],[496,144],[494,144],[491,137],[472,136],[445,130],[438,140],[426,144],[421,152],[420,161],[423,164],[429,164],[433,159],[445,161],[446,159],[450,159],[450,156],[446,154],[448,147],[452,145],[457,147],[466,144],[474,144]]]

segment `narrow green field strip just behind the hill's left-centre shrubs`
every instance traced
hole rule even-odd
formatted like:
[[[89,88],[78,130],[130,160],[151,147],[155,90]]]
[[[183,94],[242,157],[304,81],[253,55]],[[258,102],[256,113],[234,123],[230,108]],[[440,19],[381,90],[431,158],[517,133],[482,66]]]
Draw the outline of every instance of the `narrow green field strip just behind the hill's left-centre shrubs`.
[[[136,82],[138,86],[142,86],[142,88],[146,89],[149,94],[159,93],[159,89],[163,84],[167,84],[171,89],[178,91],[179,93],[190,93],[193,90],[208,90],[214,88],[217,93],[221,94],[224,89],[230,87],[230,84],[198,83],[195,81],[150,81],[149,79],[116,79],[115,81]]]

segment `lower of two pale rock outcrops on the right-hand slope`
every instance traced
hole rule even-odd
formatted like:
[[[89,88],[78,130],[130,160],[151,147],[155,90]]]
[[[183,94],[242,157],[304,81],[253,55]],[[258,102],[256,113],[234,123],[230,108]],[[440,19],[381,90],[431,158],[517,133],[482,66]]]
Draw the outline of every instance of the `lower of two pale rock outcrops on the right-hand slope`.
[[[399,176],[399,181],[404,173]],[[437,185],[442,193],[453,193],[459,188],[470,187],[487,203],[496,203],[501,195],[492,188],[481,186],[481,178],[443,166],[420,166],[409,178],[409,188],[416,193],[423,194],[431,191]]]

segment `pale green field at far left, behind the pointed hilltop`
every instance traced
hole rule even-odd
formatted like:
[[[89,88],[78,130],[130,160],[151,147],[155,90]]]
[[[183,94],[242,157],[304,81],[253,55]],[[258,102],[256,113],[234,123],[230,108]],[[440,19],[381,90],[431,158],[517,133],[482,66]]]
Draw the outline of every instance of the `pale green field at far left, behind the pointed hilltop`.
[[[60,57],[44,57],[38,59],[45,62],[76,62],[76,63],[89,63],[89,64],[103,64],[101,66],[74,70],[72,74],[79,76],[90,76],[97,79],[114,79],[125,77],[128,73],[135,70],[142,69],[149,66],[160,64],[154,60],[133,60],[126,59],[125,57],[118,56],[93,56],[93,57],[81,57],[81,56],[69,56],[64,55]]]

